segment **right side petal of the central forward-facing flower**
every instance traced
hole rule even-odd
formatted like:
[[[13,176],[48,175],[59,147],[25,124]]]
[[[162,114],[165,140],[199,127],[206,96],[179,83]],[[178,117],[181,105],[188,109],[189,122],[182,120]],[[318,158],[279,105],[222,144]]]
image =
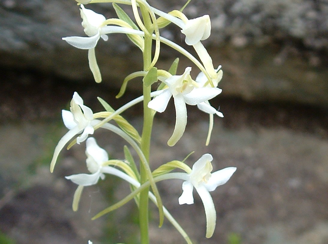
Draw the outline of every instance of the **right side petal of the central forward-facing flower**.
[[[201,102],[210,100],[220,94],[222,90],[216,87],[194,88],[188,94],[184,94],[184,100],[189,105],[197,105]]]

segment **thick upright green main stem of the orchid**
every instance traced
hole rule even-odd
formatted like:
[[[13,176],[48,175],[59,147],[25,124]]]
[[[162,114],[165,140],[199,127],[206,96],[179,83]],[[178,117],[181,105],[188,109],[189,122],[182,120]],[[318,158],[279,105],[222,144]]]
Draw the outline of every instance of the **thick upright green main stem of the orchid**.
[[[146,8],[140,5],[140,10],[143,18],[144,25],[147,30],[150,30],[150,26],[152,25],[150,16]],[[152,33],[152,31],[150,30]],[[152,62],[152,36],[148,36],[145,34],[145,49],[143,52],[143,62],[144,62],[144,71],[148,69]],[[149,162],[149,154],[150,154],[150,139],[153,127],[153,116],[151,109],[148,108],[148,103],[151,100],[150,96],[151,87],[145,86],[143,84],[143,113],[144,113],[144,121],[141,135],[141,150],[144,153],[147,161]],[[141,184],[145,183],[148,180],[147,173],[145,168],[140,165],[140,178]],[[149,244],[149,200],[148,200],[148,192],[149,187],[144,189],[140,193],[140,201],[139,201],[139,226],[140,226],[140,241],[141,244]]]

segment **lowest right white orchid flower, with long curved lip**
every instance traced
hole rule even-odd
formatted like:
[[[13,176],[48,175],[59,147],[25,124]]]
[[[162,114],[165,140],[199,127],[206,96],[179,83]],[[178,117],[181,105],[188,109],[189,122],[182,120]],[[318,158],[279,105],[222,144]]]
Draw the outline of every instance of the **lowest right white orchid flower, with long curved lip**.
[[[209,192],[225,184],[237,169],[236,167],[228,167],[211,173],[213,170],[212,160],[212,155],[206,153],[195,162],[192,172],[188,174],[188,180],[182,183],[183,192],[178,199],[180,205],[193,204],[193,189],[195,187],[205,208],[207,238],[213,235],[216,222],[215,207]]]

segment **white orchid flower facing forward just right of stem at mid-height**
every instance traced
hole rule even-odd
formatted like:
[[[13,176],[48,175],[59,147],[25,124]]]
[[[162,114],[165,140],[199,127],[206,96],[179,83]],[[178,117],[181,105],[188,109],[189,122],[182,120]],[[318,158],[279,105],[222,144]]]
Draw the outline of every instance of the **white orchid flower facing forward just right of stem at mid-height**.
[[[173,75],[163,82],[168,86],[162,93],[148,103],[148,107],[157,111],[164,112],[170,98],[174,98],[176,120],[174,132],[168,140],[169,146],[174,146],[181,138],[187,124],[186,104],[197,105],[210,100],[222,92],[219,88],[201,87],[198,88],[190,76],[191,67],[187,67],[182,75]]]

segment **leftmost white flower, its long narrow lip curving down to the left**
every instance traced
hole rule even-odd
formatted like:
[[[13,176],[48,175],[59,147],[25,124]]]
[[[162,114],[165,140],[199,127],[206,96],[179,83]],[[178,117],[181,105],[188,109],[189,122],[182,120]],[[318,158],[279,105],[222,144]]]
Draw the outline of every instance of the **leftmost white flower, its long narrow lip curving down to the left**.
[[[93,112],[83,104],[83,99],[77,92],[74,92],[71,100],[70,111],[62,110],[64,125],[69,131],[59,140],[50,164],[50,171],[53,171],[58,154],[64,146],[78,133],[82,134],[76,138],[76,143],[80,144],[85,141],[89,134],[93,134],[92,127]]]

